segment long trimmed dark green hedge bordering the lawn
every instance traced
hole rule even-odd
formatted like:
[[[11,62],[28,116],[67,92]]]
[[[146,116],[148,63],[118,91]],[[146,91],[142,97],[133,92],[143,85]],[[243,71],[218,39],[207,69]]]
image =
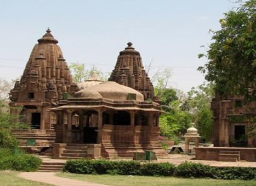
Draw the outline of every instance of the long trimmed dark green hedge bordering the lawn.
[[[213,179],[255,179],[255,171],[250,167],[211,167],[201,163],[184,163],[174,166],[170,163],[139,163],[138,161],[110,160],[68,160],[64,172],[82,174],[114,174],[140,176],[177,176]]]

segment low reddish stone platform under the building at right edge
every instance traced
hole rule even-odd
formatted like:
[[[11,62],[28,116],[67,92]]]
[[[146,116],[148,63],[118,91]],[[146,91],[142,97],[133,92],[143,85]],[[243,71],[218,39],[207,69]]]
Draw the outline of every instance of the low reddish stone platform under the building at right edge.
[[[240,148],[240,147],[196,147],[197,160],[214,160],[218,161],[220,154],[225,151],[240,152],[240,160],[256,161],[256,148]]]

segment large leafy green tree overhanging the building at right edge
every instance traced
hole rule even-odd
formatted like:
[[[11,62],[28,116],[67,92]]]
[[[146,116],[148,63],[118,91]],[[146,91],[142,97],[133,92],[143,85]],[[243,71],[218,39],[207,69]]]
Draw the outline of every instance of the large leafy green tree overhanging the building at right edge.
[[[249,0],[224,14],[221,29],[213,32],[208,62],[198,70],[215,83],[221,95],[244,95],[255,99],[256,90],[256,0]]]

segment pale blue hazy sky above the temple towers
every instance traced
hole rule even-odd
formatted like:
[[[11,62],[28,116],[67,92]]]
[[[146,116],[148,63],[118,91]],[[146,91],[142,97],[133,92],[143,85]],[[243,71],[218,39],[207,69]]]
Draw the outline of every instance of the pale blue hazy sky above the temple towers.
[[[67,63],[111,72],[128,41],[152,77],[168,68],[168,86],[187,92],[201,85],[198,59],[220,29],[231,0],[0,0],[0,79],[20,77],[37,39],[49,27]],[[204,45],[204,47],[200,47]]]

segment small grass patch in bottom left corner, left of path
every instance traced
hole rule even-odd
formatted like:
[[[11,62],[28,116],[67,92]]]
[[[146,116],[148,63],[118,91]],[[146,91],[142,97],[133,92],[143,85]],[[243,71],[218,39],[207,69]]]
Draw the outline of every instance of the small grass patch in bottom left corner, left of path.
[[[19,172],[14,171],[0,171],[0,185],[1,186],[50,186],[49,184],[33,182],[17,176]]]

